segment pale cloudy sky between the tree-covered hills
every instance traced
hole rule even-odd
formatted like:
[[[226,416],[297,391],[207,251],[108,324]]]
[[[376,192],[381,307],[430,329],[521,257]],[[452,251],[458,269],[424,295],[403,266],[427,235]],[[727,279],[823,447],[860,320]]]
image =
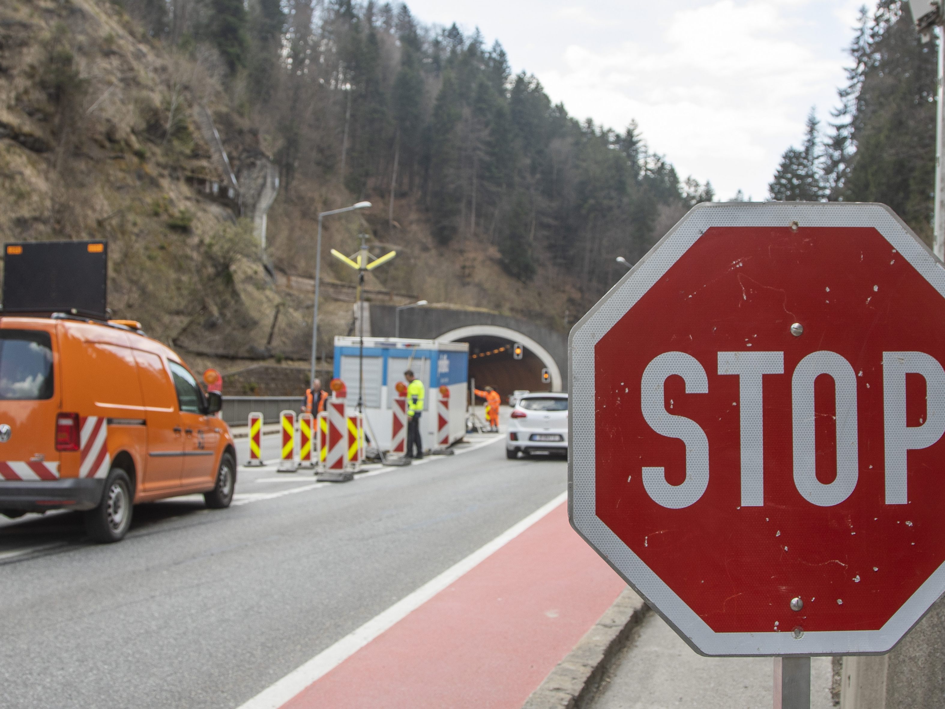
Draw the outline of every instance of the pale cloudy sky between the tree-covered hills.
[[[424,24],[478,27],[571,115],[636,120],[680,179],[765,199],[816,107],[822,127],[864,0],[407,0]]]

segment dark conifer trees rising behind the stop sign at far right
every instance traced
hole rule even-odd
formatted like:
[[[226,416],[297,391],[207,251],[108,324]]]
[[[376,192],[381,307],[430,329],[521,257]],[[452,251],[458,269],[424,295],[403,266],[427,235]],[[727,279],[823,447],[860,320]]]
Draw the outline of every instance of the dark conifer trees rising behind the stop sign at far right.
[[[826,131],[812,110],[803,145],[782,156],[772,199],[884,202],[931,243],[936,53],[936,38],[921,42],[904,3],[864,8],[839,108]]]

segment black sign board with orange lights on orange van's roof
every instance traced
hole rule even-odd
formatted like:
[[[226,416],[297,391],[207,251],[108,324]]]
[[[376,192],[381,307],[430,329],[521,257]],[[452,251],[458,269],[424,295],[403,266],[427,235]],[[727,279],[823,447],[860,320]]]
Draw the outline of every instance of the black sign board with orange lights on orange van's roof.
[[[74,313],[106,320],[106,241],[24,241],[4,246],[5,313]]]

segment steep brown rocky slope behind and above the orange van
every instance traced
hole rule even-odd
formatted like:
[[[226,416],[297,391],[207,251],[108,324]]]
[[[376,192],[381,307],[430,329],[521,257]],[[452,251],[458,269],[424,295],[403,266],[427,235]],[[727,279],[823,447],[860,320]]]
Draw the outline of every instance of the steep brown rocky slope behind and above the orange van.
[[[278,173],[214,61],[108,2],[0,4],[0,236],[108,238],[116,317],[195,354],[304,357],[304,299],[261,258]],[[215,112],[229,164],[201,130]]]

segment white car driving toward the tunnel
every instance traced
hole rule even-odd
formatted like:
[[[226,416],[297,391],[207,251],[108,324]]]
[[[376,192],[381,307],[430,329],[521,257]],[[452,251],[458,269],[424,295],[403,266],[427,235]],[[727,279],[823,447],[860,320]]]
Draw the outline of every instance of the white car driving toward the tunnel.
[[[568,395],[552,391],[523,394],[512,409],[506,458],[519,453],[568,452]]]

